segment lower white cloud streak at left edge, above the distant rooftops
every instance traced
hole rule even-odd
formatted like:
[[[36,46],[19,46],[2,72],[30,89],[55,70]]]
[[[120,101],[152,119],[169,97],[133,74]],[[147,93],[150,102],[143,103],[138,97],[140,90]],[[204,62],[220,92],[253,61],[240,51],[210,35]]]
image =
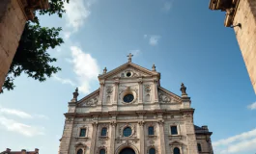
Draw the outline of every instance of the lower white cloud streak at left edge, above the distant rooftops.
[[[0,116],[0,126],[7,129],[8,131],[15,132],[27,137],[44,135],[43,127],[36,127],[36,126],[19,123],[14,119],[9,119],[9,118],[6,118],[5,116]]]

